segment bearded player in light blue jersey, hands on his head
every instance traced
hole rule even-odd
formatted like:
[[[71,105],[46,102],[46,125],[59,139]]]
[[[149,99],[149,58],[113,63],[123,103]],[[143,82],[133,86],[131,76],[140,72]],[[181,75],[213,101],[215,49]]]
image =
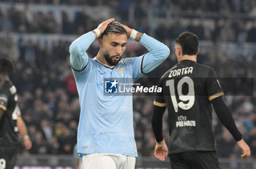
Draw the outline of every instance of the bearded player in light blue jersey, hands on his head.
[[[149,52],[121,59],[128,37]],[[99,52],[91,59],[86,50],[95,39]],[[134,169],[138,154],[132,95],[105,95],[104,79],[127,78],[135,82],[157,68],[170,54],[169,48],[112,18],[72,42],[69,52],[80,101],[78,153],[83,156],[83,168]]]

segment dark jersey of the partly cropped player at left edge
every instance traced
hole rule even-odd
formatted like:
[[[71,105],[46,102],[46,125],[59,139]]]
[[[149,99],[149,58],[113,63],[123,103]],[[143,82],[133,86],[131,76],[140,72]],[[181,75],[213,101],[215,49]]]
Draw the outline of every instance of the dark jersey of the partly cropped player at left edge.
[[[13,149],[18,146],[17,119],[20,116],[17,90],[12,82],[0,85],[0,109],[4,111],[0,119],[0,149]]]

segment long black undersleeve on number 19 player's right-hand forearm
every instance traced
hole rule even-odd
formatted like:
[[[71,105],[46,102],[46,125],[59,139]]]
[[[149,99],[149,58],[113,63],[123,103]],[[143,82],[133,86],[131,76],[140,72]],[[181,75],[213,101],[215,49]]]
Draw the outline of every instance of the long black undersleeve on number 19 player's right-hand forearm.
[[[227,130],[233,135],[236,141],[240,141],[242,139],[241,133],[238,131],[234,119],[230,113],[230,110],[227,108],[224,103],[222,97],[214,98],[211,101],[214,106],[214,110],[216,111],[217,117],[219,117],[220,122],[224,125]]]

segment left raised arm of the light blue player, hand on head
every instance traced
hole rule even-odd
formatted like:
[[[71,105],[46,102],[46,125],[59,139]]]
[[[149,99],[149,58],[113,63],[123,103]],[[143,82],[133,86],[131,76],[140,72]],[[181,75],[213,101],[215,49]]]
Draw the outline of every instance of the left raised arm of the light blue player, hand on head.
[[[114,19],[105,20],[100,23],[94,31],[89,31],[87,34],[83,34],[76,39],[69,47],[70,63],[75,71],[82,71],[88,64],[88,55],[86,50],[90,47],[92,42],[99,37],[107,28],[108,23],[111,23]]]

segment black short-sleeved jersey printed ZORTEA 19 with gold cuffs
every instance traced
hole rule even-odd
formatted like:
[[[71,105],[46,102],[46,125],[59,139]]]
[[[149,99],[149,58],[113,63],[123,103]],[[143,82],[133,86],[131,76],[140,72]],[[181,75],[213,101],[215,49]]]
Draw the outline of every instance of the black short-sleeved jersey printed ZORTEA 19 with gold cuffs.
[[[167,106],[169,154],[215,150],[211,100],[224,95],[214,69],[182,60],[161,79],[155,106]]]

